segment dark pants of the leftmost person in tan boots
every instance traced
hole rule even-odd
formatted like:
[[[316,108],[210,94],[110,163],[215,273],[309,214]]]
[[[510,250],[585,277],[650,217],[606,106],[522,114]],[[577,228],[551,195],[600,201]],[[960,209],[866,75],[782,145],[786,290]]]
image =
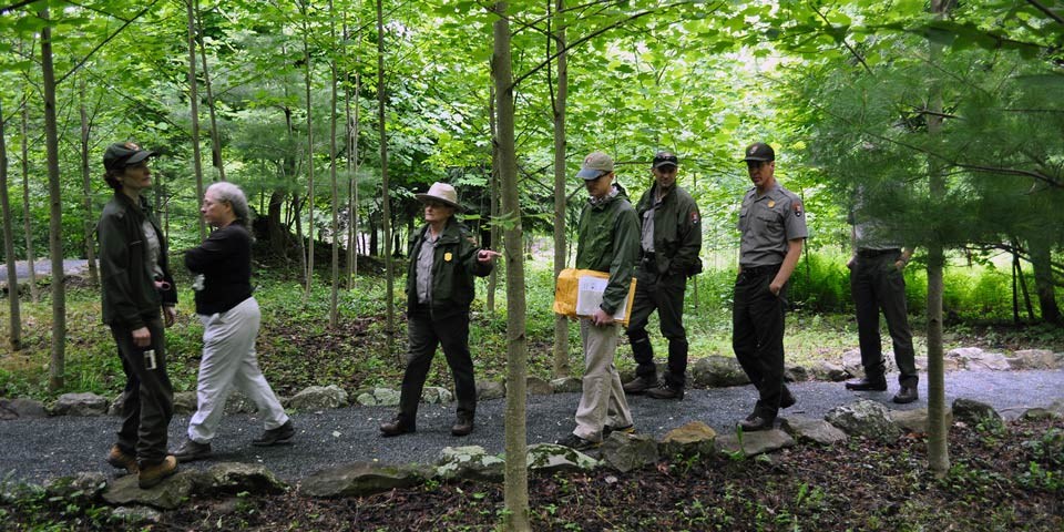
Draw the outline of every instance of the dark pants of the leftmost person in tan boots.
[[[122,428],[117,446],[134,454],[142,464],[157,463],[166,458],[166,430],[174,416],[174,390],[166,374],[166,340],[160,317],[146,324],[152,345],[133,345],[133,330],[111,326],[111,336],[119,346],[122,370],[125,371],[125,399],[122,402]],[[144,365],[144,352],[155,350],[155,369]]]

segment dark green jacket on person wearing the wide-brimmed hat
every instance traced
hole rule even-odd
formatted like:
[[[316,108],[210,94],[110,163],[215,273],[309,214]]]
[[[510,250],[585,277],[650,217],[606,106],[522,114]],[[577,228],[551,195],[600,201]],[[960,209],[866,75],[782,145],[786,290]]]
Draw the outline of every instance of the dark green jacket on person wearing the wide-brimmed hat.
[[[418,255],[424,243],[424,225],[410,236],[410,265],[407,267],[407,308],[418,303]],[[491,263],[477,260],[480,247],[474,244],[473,234],[453,217],[436,243],[432,257],[432,308],[433,319],[444,318],[459,313],[468,313],[475,296],[473,276],[485,277],[491,273]]]

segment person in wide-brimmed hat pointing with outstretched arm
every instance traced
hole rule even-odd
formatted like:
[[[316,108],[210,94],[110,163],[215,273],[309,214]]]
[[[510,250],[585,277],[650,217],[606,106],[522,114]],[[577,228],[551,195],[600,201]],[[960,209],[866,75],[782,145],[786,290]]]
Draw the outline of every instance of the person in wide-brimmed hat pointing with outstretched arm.
[[[469,352],[469,306],[474,297],[473,276],[485,277],[498,252],[477,246],[472,233],[454,218],[462,207],[454,187],[433,183],[429,192],[416,194],[424,204],[424,222],[410,237],[407,270],[407,336],[409,351],[402,375],[399,413],[380,426],[383,437],[417,430],[418,401],[424,388],[437,346],[454,377],[458,412],[451,434],[473,431],[477,385]]]

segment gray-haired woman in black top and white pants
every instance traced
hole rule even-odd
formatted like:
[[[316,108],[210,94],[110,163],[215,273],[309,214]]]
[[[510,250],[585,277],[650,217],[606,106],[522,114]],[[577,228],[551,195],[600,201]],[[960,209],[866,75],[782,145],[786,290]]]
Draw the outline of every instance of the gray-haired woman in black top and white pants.
[[[178,462],[207,458],[217,434],[225,401],[234,388],[258,407],[265,432],[253,446],[290,443],[296,431],[255,356],[262,323],[252,295],[252,213],[241,188],[214,183],[203,194],[200,213],[215,227],[198,247],[185,252],[185,267],[196,274],[193,284],[196,314],[203,324],[203,358],[196,379],[196,412],[187,438],[174,451]]]

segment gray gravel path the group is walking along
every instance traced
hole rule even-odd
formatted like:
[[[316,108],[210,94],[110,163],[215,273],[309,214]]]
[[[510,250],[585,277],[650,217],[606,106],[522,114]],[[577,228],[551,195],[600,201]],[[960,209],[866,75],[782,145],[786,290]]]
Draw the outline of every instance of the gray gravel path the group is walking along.
[[[1045,407],[1064,399],[1064,370],[1046,371],[955,371],[945,377],[947,401],[964,397],[986,402],[1005,417],[1016,417],[1027,408]],[[830,409],[866,397],[892,409],[927,407],[927,383],[920,383],[920,400],[899,406],[890,402],[897,391],[850,392],[841,382],[798,382],[789,385],[798,403],[784,416],[820,418]],[[753,409],[753,388],[688,390],[683,401],[659,401],[646,397],[630,398],[632,415],[640,432],[662,437],[668,430],[700,420],[718,432],[733,427]],[[576,393],[530,396],[528,439],[530,443],[553,442],[573,428]],[[505,400],[481,401],[477,429],[467,438],[450,434],[451,406],[422,405],[418,432],[398,438],[380,438],[377,426],[393,413],[390,407],[350,407],[319,412],[296,413],[293,421],[297,439],[293,446],[256,448],[250,440],[262,431],[253,415],[227,416],[213,447],[212,460],[183,464],[205,469],[221,461],[260,462],[282,479],[294,482],[337,463],[380,460],[388,463],[433,463],[448,446],[482,446],[489,452],[503,450]],[[188,417],[177,416],[170,426],[171,448],[184,438]],[[0,482],[42,482],[51,477],[79,471],[112,469],[103,461],[119,428],[114,417],[38,418],[0,421]]]

